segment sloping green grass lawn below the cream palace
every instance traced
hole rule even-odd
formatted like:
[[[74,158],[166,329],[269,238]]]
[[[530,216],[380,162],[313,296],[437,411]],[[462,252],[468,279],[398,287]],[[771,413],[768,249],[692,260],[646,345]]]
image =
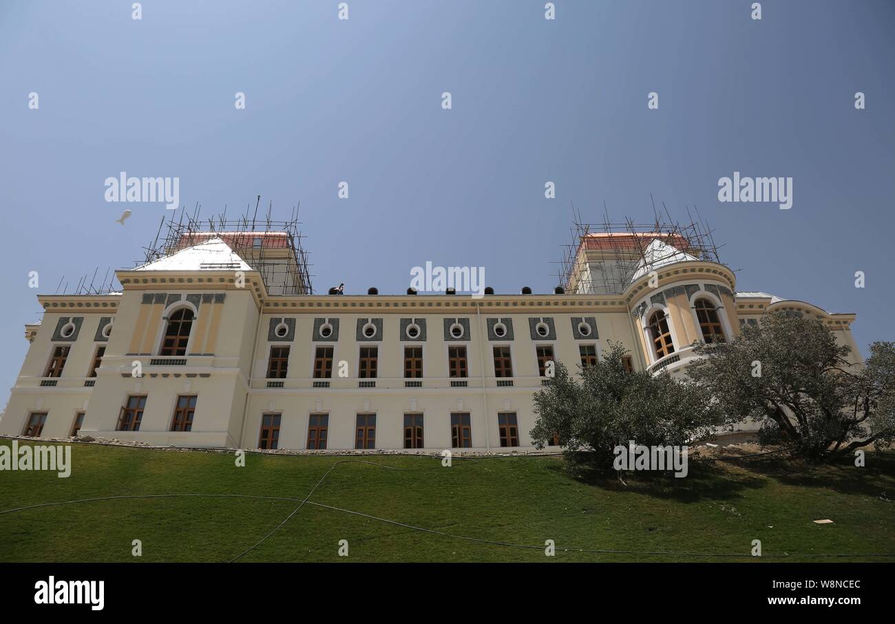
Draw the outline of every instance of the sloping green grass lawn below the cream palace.
[[[138,494],[298,500],[131,498],[0,513],[0,561],[229,561],[283,522],[337,462],[345,463],[309,503],[239,561],[895,561],[891,452],[869,454],[866,468],[691,460],[686,478],[626,476],[622,485],[570,475],[553,457],[455,458],[443,468],[440,458],[250,453],[237,468],[233,453],[90,444],[72,445],[68,478],[0,471],[0,511]],[[134,539],[141,557],[132,556]],[[342,539],[348,557],[337,556]],[[557,546],[552,558],[543,551],[548,539]],[[683,554],[748,555],[754,539],[761,558]],[[656,551],[675,554],[644,553]],[[810,556],[820,553],[893,556]]]

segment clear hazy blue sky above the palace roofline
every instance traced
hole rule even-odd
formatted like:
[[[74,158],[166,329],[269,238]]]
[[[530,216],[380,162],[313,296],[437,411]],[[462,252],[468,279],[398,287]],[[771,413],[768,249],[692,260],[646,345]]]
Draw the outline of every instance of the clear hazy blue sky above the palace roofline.
[[[549,291],[570,202],[644,221],[652,193],[699,208],[739,290],[857,313],[865,355],[895,338],[895,3],[131,4],[0,4],[6,388],[40,312],[29,272],[53,292],[153,239],[164,205],[104,200],[122,171],[179,177],[204,215],[301,201],[318,291],[403,292],[426,261]],[[792,177],[793,207],[719,203],[735,171]]]

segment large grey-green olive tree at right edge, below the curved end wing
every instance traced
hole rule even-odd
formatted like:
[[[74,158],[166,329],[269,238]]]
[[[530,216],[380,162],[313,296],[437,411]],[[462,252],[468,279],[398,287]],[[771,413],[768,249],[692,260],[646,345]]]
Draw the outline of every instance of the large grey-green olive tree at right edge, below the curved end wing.
[[[688,375],[729,417],[761,423],[759,442],[782,443],[807,460],[833,460],[895,439],[895,343],[848,361],[820,320],[773,312],[736,341],[698,344]]]

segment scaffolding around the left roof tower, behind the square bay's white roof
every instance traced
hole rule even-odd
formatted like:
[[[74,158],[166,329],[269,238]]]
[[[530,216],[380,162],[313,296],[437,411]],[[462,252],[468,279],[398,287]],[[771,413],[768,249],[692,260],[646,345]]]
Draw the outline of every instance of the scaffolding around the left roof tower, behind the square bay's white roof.
[[[227,219],[226,207],[219,215],[203,218],[199,204],[192,215],[184,207],[179,215],[175,211],[167,219],[163,216],[155,240],[143,248],[145,255],[136,264],[148,265],[182,249],[219,238],[261,274],[268,294],[313,294],[311,264],[302,245],[303,234],[298,229],[299,206],[293,207],[286,221],[276,221],[271,219],[273,202],[268,205],[267,215],[258,217],[260,201],[259,195],[254,211],[250,204],[237,219]]]

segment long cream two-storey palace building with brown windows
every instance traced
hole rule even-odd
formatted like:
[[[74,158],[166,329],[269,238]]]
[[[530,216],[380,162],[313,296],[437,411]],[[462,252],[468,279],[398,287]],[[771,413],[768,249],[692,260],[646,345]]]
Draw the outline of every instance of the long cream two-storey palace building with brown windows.
[[[585,233],[552,293],[310,294],[290,232],[178,232],[120,291],[38,295],[0,434],[189,447],[532,448],[548,362],[608,341],[682,375],[693,344],[788,310],[858,350],[854,314],[764,292],[677,232]],[[306,266],[306,263],[304,264]],[[749,428],[748,423],[743,424]]]

